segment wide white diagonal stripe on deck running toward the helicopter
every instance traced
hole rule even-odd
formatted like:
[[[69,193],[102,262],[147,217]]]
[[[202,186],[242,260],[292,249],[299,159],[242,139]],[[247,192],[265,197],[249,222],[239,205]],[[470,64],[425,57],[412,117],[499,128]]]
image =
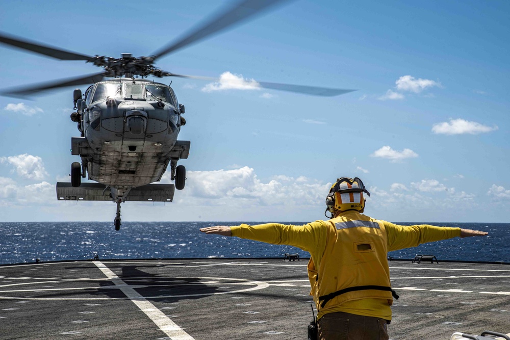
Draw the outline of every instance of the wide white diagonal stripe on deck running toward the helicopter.
[[[126,285],[124,281],[114,272],[112,272],[107,266],[100,261],[94,261],[94,265],[97,266],[113,283],[116,285]],[[142,310],[152,322],[154,322],[166,335],[172,338],[172,340],[194,340],[194,338],[186,333],[181,327],[177,326],[170,318],[168,318],[161,310],[157,309],[155,305],[147,301],[143,296],[138,294],[133,288],[129,286],[122,286],[120,288],[134,304]]]

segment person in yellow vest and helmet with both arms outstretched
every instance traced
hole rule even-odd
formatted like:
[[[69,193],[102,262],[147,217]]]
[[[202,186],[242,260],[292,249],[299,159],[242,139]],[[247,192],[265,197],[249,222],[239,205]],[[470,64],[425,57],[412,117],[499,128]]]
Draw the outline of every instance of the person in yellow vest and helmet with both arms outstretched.
[[[308,251],[308,277],[317,306],[318,335],[322,340],[388,339],[393,297],[389,251],[454,237],[483,236],[487,232],[432,225],[402,226],[362,213],[360,178],[342,177],[326,197],[327,221],[305,225],[260,225],[201,228],[207,234],[235,236]],[[326,216],[327,217],[327,216]]]

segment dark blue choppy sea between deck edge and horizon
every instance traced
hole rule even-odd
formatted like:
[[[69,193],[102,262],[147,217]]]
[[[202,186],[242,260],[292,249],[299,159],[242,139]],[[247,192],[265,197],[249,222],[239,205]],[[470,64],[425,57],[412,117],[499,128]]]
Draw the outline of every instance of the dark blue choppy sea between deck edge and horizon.
[[[308,252],[285,245],[206,235],[198,229],[241,222],[123,222],[115,231],[111,222],[0,222],[0,264],[55,260],[142,258],[283,257]],[[264,222],[247,222],[260,224]],[[280,222],[301,225],[307,222]],[[489,236],[454,238],[389,253],[412,259],[432,254],[439,260],[499,261],[510,263],[510,223],[413,222],[488,231]]]

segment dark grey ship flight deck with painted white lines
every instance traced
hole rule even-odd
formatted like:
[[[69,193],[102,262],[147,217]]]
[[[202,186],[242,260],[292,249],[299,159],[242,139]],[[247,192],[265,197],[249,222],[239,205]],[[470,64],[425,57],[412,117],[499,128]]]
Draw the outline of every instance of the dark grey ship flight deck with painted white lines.
[[[109,260],[0,267],[0,339],[304,339],[307,261]],[[510,266],[390,261],[390,338],[510,332]]]

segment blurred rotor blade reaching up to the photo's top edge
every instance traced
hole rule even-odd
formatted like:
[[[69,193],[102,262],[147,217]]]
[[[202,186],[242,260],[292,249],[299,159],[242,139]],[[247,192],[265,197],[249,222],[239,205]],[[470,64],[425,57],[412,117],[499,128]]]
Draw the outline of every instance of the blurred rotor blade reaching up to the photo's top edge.
[[[166,47],[161,48],[154,54],[154,59],[163,57],[177,49],[183,48],[198,40],[209,37],[215,33],[219,33],[227,28],[233,28],[235,24],[261,14],[264,10],[277,3],[283,3],[289,0],[244,0],[239,2],[231,9],[220,13],[210,20],[198,25],[194,30],[185,35],[179,41],[174,42]]]

